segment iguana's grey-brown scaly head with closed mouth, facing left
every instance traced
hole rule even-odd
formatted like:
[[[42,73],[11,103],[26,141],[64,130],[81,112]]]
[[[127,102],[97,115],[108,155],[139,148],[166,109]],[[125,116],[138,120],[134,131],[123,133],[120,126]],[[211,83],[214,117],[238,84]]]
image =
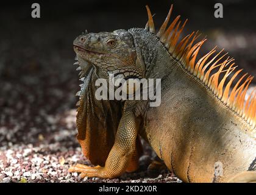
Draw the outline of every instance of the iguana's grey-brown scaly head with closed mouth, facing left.
[[[86,32],[73,44],[78,59],[93,65],[101,77],[110,74],[124,79],[144,76],[144,66],[138,63],[133,37],[127,30]]]

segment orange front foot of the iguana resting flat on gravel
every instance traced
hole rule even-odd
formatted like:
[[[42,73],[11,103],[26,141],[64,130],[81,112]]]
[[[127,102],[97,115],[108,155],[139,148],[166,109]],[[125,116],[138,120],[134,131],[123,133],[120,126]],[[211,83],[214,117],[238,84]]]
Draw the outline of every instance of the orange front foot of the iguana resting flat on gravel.
[[[102,166],[87,166],[77,164],[75,166],[71,166],[68,169],[68,172],[80,172],[80,177],[83,179],[84,177],[101,177],[101,178],[112,178],[110,174],[108,174],[107,170]]]

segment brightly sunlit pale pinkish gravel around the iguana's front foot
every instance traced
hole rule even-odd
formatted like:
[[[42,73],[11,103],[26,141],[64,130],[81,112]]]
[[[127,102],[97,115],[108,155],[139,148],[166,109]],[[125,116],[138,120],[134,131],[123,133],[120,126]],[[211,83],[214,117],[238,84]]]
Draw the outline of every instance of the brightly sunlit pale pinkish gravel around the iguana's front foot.
[[[123,174],[119,179],[80,179],[77,173],[68,173],[69,166],[76,163],[91,165],[75,139],[75,115],[76,111],[70,110],[62,115],[62,119],[48,116],[49,128],[60,126],[59,123],[62,127],[48,138],[41,133],[35,137],[35,129],[27,132],[26,137],[36,144],[15,143],[14,134],[2,127],[1,137],[5,137],[6,144],[0,147],[0,182],[181,182],[166,169],[160,172],[147,170],[155,154],[146,144],[136,173]]]

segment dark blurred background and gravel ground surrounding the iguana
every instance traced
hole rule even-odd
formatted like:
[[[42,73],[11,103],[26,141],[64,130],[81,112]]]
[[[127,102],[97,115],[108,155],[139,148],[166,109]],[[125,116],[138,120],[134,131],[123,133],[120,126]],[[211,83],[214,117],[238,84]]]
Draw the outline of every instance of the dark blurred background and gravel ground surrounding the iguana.
[[[144,27],[146,4],[156,13],[158,28],[173,3],[172,19],[188,18],[187,33],[207,35],[202,51],[225,48],[236,64],[256,75],[254,1],[37,1],[41,18],[32,18],[34,2],[1,2],[0,7],[0,182],[74,182],[77,175],[68,174],[68,166],[90,165],[76,141],[75,123],[79,80],[73,40],[85,29]],[[224,18],[214,16],[217,2],[224,6]],[[145,151],[144,166],[154,158],[146,146]],[[157,181],[168,181],[168,174]]]

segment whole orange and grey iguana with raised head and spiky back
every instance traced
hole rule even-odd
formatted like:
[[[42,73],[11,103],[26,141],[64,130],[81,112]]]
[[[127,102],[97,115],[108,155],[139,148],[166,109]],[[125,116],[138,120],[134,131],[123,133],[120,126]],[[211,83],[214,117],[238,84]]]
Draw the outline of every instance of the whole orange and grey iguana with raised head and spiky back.
[[[256,90],[245,101],[252,76],[216,47],[197,59],[206,39],[198,32],[181,38],[169,10],[155,32],[148,5],[143,28],[85,32],[74,40],[82,69],[77,129],[94,167],[76,165],[80,177],[118,177],[138,168],[140,137],[183,182],[256,181]],[[97,101],[97,78],[161,79],[161,104],[149,100]],[[85,76],[85,77],[83,77]]]

